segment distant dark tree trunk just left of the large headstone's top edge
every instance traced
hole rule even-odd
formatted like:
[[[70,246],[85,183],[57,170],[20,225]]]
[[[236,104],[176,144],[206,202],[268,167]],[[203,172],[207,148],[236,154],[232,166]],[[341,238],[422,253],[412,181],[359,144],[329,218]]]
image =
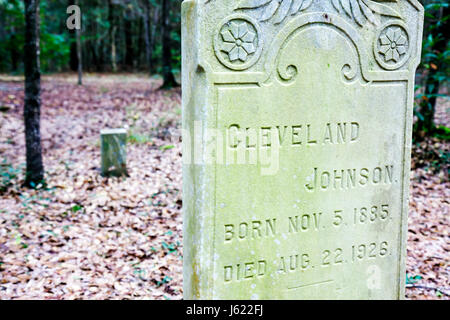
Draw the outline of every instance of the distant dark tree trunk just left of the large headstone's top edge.
[[[178,84],[175,81],[175,77],[172,73],[172,53],[171,53],[171,40],[169,30],[169,0],[162,0],[162,36],[163,36],[163,89],[169,89],[176,87]]]

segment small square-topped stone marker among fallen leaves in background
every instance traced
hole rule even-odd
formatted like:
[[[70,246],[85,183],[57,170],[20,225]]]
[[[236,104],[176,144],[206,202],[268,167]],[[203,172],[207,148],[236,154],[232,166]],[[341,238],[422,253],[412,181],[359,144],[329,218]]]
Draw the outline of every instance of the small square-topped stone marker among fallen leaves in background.
[[[103,176],[127,175],[127,131],[125,129],[104,129],[101,136],[101,157]]]

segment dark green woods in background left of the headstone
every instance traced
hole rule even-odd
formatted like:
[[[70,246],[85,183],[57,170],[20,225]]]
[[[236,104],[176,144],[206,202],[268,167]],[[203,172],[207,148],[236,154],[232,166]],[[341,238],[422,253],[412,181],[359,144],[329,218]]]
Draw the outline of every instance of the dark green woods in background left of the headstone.
[[[180,2],[168,4],[171,67],[181,70]],[[67,29],[67,7],[74,1],[40,0],[42,72],[76,70],[75,32]],[[161,0],[80,0],[83,69],[162,71]],[[144,25],[148,22],[146,34]],[[114,31],[113,31],[114,30]],[[23,0],[0,0],[0,72],[23,73]],[[146,41],[147,37],[147,41]],[[114,41],[113,41],[114,40]],[[146,45],[151,61],[146,61]],[[131,50],[131,53],[128,52]],[[131,57],[131,58],[130,58]]]

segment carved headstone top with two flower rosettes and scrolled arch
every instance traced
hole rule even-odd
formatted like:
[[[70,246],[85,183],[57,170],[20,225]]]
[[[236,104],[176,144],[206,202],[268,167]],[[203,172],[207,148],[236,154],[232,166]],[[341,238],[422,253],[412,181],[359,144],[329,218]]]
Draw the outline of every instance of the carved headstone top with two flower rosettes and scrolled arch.
[[[386,72],[394,73],[395,79],[406,79],[418,64],[410,57],[413,51],[416,57],[420,52],[420,36],[412,36],[417,32],[410,29],[418,23],[398,1],[421,14],[415,0],[242,0],[214,31],[214,53],[225,72],[263,71],[268,76],[278,74],[280,81],[291,81],[297,74],[295,65],[273,70],[289,35],[298,28],[329,25],[341,30],[357,49],[359,66],[343,66],[345,80],[360,73],[363,81],[376,81],[386,78]]]

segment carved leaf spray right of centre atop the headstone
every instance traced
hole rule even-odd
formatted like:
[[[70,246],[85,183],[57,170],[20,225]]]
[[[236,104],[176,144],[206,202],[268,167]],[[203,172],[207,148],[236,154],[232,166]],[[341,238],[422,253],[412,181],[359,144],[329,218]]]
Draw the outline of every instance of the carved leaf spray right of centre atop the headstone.
[[[355,22],[363,26],[366,21],[379,24],[379,16],[401,19],[401,15],[392,7],[380,2],[397,2],[397,0],[331,0],[338,12],[345,12]]]

